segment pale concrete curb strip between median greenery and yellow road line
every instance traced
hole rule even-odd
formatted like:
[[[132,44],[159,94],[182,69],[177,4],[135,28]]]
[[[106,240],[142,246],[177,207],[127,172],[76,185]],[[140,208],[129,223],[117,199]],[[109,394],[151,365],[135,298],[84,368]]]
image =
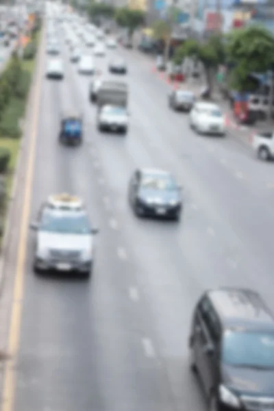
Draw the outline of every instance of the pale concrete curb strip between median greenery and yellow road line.
[[[42,33],[43,33],[43,27],[42,27]],[[42,44],[42,36],[40,40],[40,45]],[[39,51],[40,51],[40,45],[39,45]],[[36,72],[37,72],[37,66],[38,66],[38,58],[40,55],[40,52],[36,53],[36,60],[35,60],[35,65],[34,65],[34,72],[32,75],[32,83],[29,88],[29,95],[27,96],[27,104],[26,108],[27,110],[25,111],[25,116],[24,120],[27,119],[29,116],[29,108],[31,107],[31,101],[34,93],[34,80],[36,79]],[[21,163],[22,163],[22,158],[23,158],[23,148],[25,145],[25,127],[23,127],[22,134],[21,134],[21,142],[19,145],[18,149],[18,156],[17,156],[17,161],[16,161],[16,166],[14,169],[14,178],[12,182],[12,192],[10,195],[10,198],[8,199],[8,212],[6,214],[5,218],[5,228],[4,228],[4,233],[3,233],[3,238],[2,238],[2,247],[1,247],[1,253],[0,253],[0,294],[3,290],[3,285],[5,284],[5,275],[4,275],[4,268],[5,268],[5,258],[6,258],[6,252],[8,250],[8,239],[10,236],[10,226],[11,226],[11,217],[12,217],[12,212],[14,209],[14,199],[16,198],[16,190],[18,187],[18,179],[20,177],[20,169],[21,169]]]

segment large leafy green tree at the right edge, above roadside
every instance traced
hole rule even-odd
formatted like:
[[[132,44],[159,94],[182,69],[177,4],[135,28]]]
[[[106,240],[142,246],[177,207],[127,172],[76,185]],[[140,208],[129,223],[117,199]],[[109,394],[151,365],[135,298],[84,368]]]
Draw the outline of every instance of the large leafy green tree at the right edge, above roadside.
[[[259,25],[236,29],[227,36],[227,60],[234,66],[230,74],[231,85],[238,91],[254,87],[249,74],[265,73],[274,63],[274,38]]]

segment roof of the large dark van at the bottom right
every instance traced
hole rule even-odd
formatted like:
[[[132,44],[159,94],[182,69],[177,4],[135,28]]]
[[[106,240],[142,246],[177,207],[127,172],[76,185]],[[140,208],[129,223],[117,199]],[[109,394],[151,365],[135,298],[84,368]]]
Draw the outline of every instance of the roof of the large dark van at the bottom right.
[[[223,325],[248,330],[271,329],[274,316],[258,292],[248,288],[219,288],[206,293]]]

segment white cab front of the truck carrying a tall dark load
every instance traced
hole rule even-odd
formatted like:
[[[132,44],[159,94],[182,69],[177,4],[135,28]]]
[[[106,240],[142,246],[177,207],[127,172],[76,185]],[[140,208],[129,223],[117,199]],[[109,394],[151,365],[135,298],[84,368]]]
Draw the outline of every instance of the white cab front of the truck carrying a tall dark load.
[[[104,105],[98,114],[97,127],[103,131],[127,133],[129,114],[124,107]]]

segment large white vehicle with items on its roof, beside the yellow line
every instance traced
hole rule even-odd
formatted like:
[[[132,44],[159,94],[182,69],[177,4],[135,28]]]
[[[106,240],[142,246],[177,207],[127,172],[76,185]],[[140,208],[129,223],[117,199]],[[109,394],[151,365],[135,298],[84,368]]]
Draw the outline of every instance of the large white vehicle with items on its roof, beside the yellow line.
[[[50,196],[31,228],[37,233],[34,271],[76,271],[90,277],[98,229],[92,228],[81,199]]]

